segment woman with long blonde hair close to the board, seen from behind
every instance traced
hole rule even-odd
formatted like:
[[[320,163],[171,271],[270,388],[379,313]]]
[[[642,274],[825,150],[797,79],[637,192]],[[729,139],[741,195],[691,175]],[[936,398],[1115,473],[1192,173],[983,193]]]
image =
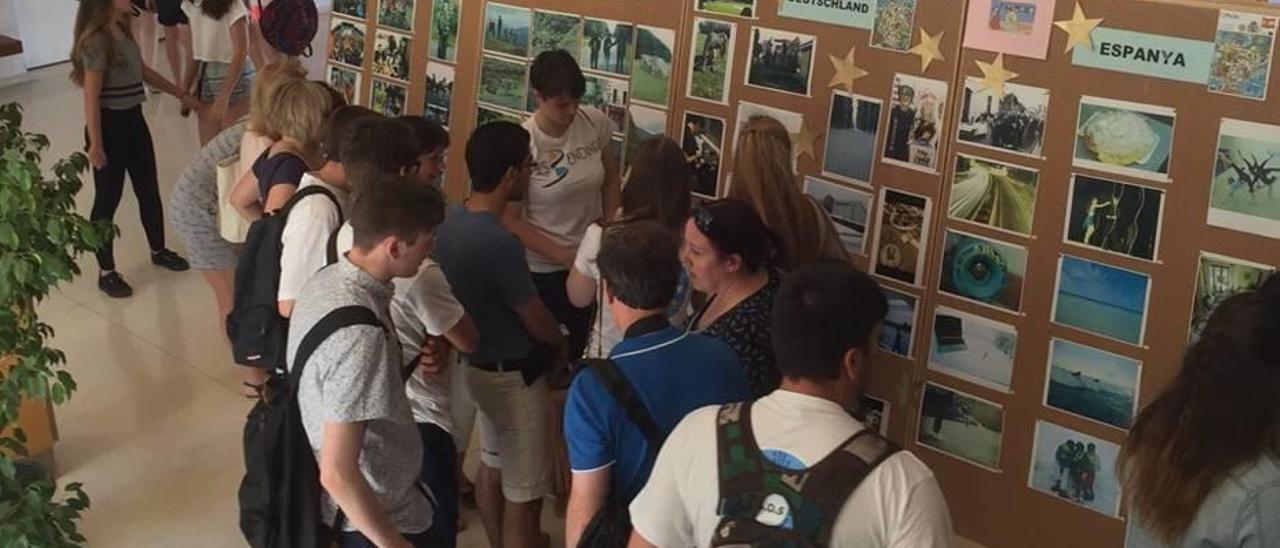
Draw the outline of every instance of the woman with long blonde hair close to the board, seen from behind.
[[[795,270],[819,259],[849,255],[826,211],[800,192],[791,169],[791,136],[769,117],[751,117],[737,137],[728,197],[751,205],[778,239],[778,266]]]

